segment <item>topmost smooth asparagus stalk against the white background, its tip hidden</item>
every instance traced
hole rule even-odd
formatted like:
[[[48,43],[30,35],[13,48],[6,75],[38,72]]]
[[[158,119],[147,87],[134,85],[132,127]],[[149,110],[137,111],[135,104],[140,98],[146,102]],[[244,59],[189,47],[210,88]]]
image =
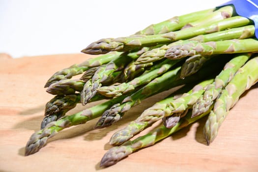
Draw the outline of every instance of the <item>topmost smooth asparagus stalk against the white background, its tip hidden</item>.
[[[174,31],[181,29],[187,23],[196,21],[200,18],[203,18],[215,11],[213,9],[206,9],[202,11],[197,11],[189,14],[185,14],[182,16],[175,16],[169,20],[160,22],[158,24],[150,25],[147,28],[136,32],[137,35],[153,35],[153,34],[160,34],[160,33],[167,33],[169,31]]]

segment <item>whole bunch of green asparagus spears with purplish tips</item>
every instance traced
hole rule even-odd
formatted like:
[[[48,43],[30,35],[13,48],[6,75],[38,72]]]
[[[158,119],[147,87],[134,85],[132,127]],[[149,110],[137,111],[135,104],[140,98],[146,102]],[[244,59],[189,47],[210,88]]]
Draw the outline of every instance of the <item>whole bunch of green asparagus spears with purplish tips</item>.
[[[144,99],[178,86],[114,133],[114,147],[100,166],[114,165],[204,115],[203,134],[210,144],[241,94],[258,81],[254,23],[238,16],[232,5],[173,17],[127,37],[100,39],[82,52],[104,55],[62,69],[47,81],[47,92],[56,96],[46,104],[41,130],[30,137],[26,155],[65,128],[97,117],[95,128],[108,127]],[[72,79],[80,74],[80,79]],[[78,103],[104,99],[65,115]],[[162,126],[130,140],[157,121]]]

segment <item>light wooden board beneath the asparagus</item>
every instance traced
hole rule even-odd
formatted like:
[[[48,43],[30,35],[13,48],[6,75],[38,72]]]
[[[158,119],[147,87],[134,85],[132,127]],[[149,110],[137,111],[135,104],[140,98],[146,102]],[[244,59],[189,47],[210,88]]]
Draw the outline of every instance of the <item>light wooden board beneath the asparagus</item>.
[[[87,57],[78,54],[12,59],[0,55],[0,171],[258,172],[258,85],[246,92],[230,111],[210,146],[202,136],[206,119],[203,118],[112,167],[98,167],[111,148],[108,142],[112,134],[166,96],[166,92],[143,101],[108,128],[92,130],[97,121],[94,119],[61,131],[39,152],[24,156],[30,135],[39,130],[44,106],[53,97],[45,92],[45,82],[57,70]],[[86,107],[78,105],[68,114]]]

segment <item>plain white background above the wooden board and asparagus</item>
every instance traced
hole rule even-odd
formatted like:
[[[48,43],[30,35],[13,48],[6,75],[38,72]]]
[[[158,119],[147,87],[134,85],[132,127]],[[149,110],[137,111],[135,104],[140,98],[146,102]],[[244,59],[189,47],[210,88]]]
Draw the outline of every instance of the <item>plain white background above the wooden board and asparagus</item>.
[[[101,38],[127,36],[228,0],[0,0],[0,53],[17,58],[80,53]]]

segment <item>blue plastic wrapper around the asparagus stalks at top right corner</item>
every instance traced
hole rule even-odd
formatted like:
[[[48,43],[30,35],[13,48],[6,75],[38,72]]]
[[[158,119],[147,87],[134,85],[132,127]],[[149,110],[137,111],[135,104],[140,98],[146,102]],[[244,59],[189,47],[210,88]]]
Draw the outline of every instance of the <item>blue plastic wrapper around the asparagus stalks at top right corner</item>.
[[[234,5],[235,11],[239,16],[246,17],[254,21],[255,34],[258,38],[258,0],[230,0],[218,7]]]

